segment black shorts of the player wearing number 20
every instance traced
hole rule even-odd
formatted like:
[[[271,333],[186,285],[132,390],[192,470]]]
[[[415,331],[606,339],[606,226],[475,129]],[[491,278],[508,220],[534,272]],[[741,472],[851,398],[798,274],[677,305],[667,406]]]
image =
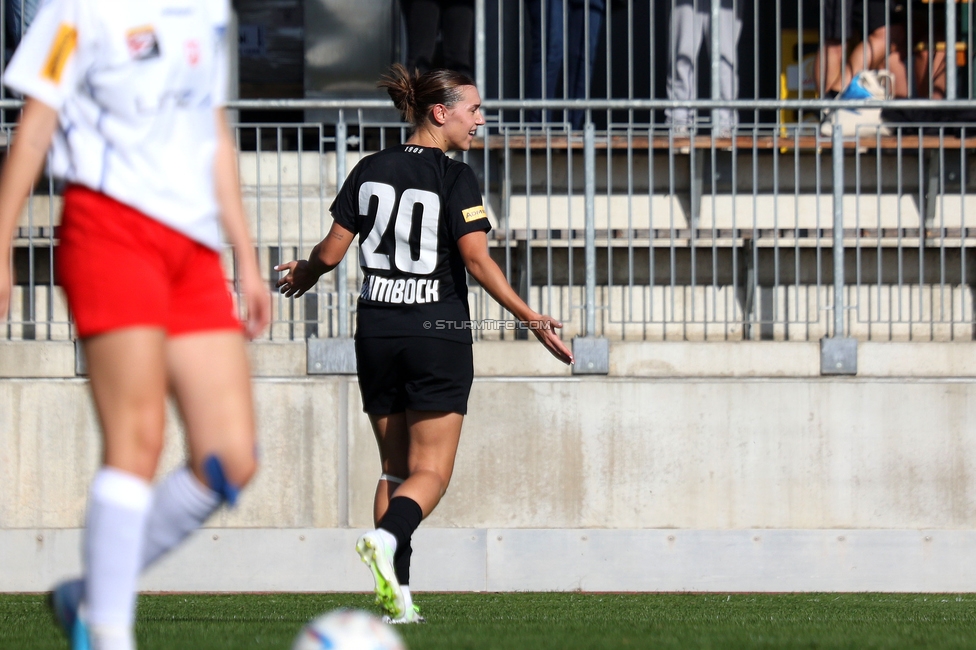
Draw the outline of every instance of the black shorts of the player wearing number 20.
[[[474,381],[470,343],[425,336],[356,339],[363,411],[468,412]]]

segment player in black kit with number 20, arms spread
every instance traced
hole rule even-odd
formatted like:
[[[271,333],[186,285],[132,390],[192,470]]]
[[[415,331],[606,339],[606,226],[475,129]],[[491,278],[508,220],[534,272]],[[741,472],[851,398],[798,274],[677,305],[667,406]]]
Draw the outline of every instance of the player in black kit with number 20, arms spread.
[[[422,622],[409,583],[410,538],[437,506],[454,470],[474,369],[465,270],[563,363],[562,325],[519,298],[488,255],[491,229],[474,172],[445,152],[467,151],[481,116],[470,77],[411,75],[396,65],[379,84],[414,131],[364,158],[332,204],[334,223],[309,259],[275,267],[286,296],[331,271],[359,236],[363,286],[356,359],[363,410],[379,446],[376,530],[356,550],[392,623]]]

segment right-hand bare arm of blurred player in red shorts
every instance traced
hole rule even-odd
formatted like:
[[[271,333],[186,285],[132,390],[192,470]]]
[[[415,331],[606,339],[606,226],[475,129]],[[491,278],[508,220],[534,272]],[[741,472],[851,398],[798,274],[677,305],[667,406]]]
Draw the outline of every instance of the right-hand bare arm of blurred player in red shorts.
[[[248,234],[244,204],[241,202],[241,184],[237,178],[237,154],[223,109],[217,110],[217,154],[214,165],[220,220],[227,240],[237,253],[237,277],[247,309],[244,331],[248,338],[253,339],[271,322],[271,294],[261,278]]]

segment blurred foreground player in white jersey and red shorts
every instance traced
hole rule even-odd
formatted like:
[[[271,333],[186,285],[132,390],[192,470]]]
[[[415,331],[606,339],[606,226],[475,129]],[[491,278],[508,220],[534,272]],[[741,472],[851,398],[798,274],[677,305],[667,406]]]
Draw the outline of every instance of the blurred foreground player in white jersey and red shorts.
[[[140,571],[232,504],[257,467],[245,336],[271,305],[222,108],[229,15],[228,0],[47,0],[4,77],[27,99],[0,175],[0,317],[12,232],[50,149],[49,173],[66,182],[58,280],[104,443],[84,577],[52,594],[76,649],[135,647]],[[167,392],[189,460],[154,487]]]

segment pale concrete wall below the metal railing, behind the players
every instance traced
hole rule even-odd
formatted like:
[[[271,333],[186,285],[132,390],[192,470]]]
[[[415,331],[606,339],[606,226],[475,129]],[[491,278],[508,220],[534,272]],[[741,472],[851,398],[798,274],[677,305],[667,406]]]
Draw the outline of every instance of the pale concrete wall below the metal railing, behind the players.
[[[368,590],[352,545],[379,467],[355,378],[306,376],[302,343],[252,352],[261,472],[144,586]],[[417,589],[976,584],[976,345],[861,344],[846,379],[819,376],[816,343],[613,343],[609,377],[532,342],[475,363]],[[73,368],[71,344],[0,344],[0,590],[78,570],[99,443]],[[175,417],[168,436],[164,470]]]

